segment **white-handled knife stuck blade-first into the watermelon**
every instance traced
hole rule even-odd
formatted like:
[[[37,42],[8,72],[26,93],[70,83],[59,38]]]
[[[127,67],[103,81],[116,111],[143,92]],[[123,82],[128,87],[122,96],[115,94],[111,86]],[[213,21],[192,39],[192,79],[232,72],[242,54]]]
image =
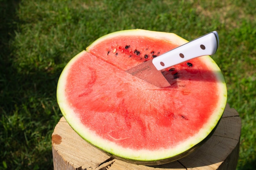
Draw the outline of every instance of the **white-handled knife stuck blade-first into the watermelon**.
[[[213,55],[216,53],[219,45],[219,36],[217,31],[212,31],[199,38],[196,38],[186,44],[178,46],[158,57],[148,60],[133,68],[127,70],[127,73],[135,75],[146,82],[158,87],[168,87],[171,84],[162,74],[164,68],[191,60],[203,55]]]

